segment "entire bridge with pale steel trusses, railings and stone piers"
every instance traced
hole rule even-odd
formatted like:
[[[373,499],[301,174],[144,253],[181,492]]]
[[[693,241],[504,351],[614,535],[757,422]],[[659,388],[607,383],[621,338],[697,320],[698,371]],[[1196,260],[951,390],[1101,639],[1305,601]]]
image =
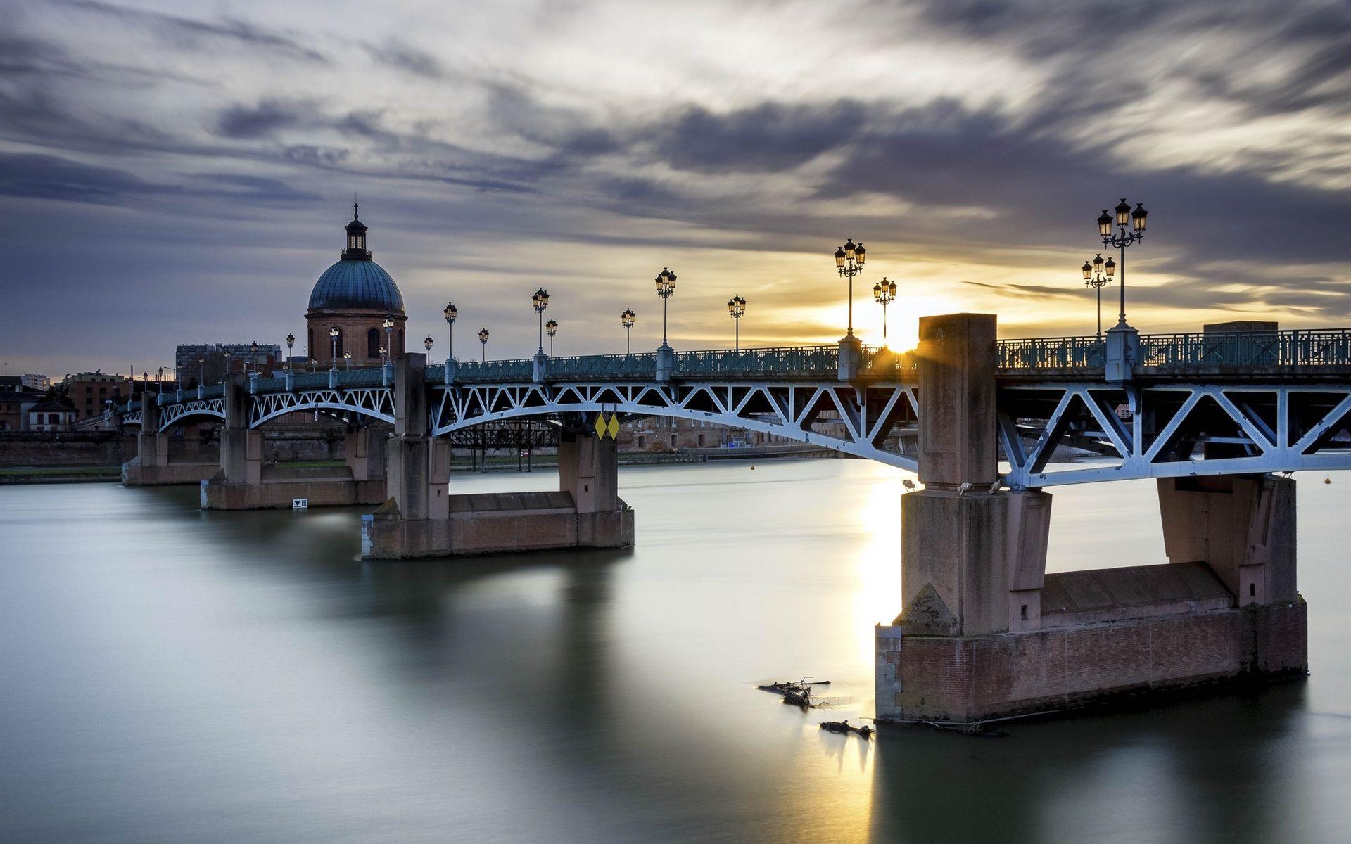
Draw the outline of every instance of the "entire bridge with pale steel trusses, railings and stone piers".
[[[267,477],[261,429],[296,412],[347,423],[349,474]],[[616,417],[734,425],[916,473],[923,489],[900,502],[902,610],[877,628],[877,713],[970,722],[1305,671],[1294,482],[1273,473],[1351,469],[1351,329],[996,340],[993,316],[948,315],[921,317],[919,347],[901,354],[852,339],[434,365],[409,354],[235,375],[112,413],[142,428],[131,483],[178,477],[166,431],[223,421],[207,509],[289,506],[300,490],[380,504],[362,521],[367,559],[632,544],[601,424]],[[538,417],[558,429],[558,493],[451,494],[457,432]],[[896,447],[898,433],[917,450]],[[1097,456],[1054,463],[1061,447]],[[1156,481],[1169,563],[1046,574],[1047,489],[1142,478]]]

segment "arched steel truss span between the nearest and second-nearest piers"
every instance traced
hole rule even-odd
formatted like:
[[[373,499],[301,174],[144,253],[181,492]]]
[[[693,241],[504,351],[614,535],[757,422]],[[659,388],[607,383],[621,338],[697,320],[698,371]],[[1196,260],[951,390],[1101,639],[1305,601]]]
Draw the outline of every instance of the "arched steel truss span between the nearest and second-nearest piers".
[[[839,382],[584,382],[434,385],[431,433],[443,436],[473,425],[553,413],[628,413],[708,421],[773,433],[843,454],[916,471],[916,458],[889,451],[886,436],[898,421],[917,417],[915,385]],[[812,429],[815,421],[839,421],[844,436]]]

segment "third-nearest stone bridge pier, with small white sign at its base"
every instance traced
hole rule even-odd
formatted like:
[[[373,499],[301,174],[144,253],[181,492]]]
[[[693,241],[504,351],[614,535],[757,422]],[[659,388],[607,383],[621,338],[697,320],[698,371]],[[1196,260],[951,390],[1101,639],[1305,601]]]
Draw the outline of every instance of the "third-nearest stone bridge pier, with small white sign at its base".
[[[385,431],[369,427],[349,429],[343,442],[345,466],[267,466],[263,432],[249,427],[249,394],[243,375],[230,377],[224,398],[220,465],[201,481],[201,509],[290,508],[296,498],[305,498],[309,506],[351,506],[385,500]]]

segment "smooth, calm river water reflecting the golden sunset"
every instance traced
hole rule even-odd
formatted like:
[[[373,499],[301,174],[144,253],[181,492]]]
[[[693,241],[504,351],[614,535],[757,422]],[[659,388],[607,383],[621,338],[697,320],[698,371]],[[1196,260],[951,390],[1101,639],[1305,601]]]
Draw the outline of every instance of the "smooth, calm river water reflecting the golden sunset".
[[[638,547],[362,563],[359,510],[0,487],[0,840],[1347,841],[1351,473],[1298,475],[1306,682],[871,744],[900,475],[626,469]],[[551,471],[457,475],[546,489]],[[1150,483],[1052,570],[1163,562]],[[830,678],[804,714],[755,682]]]

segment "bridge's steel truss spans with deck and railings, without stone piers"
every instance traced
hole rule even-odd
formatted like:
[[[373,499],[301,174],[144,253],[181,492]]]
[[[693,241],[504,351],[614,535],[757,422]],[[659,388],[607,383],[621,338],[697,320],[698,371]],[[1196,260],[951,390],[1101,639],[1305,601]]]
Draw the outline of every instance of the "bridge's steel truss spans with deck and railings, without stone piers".
[[[1102,338],[996,343],[998,436],[1013,489],[1183,475],[1351,469],[1351,329],[1138,335],[1109,381]],[[415,355],[420,361],[420,355]],[[919,424],[912,352],[794,346],[426,366],[432,436],[565,413],[669,416],[812,443],[915,471],[888,446]],[[247,425],[315,411],[393,423],[394,366],[251,378]],[[224,386],[158,397],[159,431],[226,417]],[[141,424],[139,405],[112,412]],[[838,421],[842,435],[813,429]],[[920,432],[921,438],[924,432]],[[894,443],[894,438],[892,440]],[[1048,469],[1061,444],[1106,458]]]

